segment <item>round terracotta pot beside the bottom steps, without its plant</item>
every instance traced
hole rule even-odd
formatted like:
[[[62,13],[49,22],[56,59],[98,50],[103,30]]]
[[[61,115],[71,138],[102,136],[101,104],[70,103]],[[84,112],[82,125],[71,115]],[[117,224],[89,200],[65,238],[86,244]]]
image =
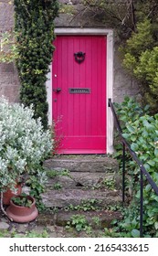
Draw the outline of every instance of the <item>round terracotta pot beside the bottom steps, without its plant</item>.
[[[21,196],[16,196],[16,197],[21,197]],[[23,207],[23,206],[17,206],[12,200],[10,200],[10,206],[6,208],[6,214],[9,219],[12,219],[18,223],[26,223],[37,218],[38,211],[37,211],[35,199],[30,196],[27,196],[27,198],[32,201],[32,204],[29,208]]]

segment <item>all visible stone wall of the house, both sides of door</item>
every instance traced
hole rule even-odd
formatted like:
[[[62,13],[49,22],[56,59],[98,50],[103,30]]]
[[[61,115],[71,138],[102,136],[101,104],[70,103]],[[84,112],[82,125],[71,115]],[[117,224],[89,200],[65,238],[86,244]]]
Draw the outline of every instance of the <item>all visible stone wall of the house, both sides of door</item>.
[[[65,5],[69,14],[64,11],[56,18],[56,27],[95,27],[112,28],[109,22],[100,21],[100,17],[90,12],[90,9],[81,5],[81,0],[59,0]],[[13,27],[13,5],[8,4],[8,0],[0,3],[0,31],[4,32]],[[107,23],[106,23],[107,22]],[[121,68],[121,59],[118,53],[118,41],[114,38],[114,87],[113,100],[120,102],[125,95],[135,96],[139,94],[137,83],[130,78]],[[5,95],[10,101],[19,99],[19,80],[16,67],[13,64],[0,64],[0,95]]]

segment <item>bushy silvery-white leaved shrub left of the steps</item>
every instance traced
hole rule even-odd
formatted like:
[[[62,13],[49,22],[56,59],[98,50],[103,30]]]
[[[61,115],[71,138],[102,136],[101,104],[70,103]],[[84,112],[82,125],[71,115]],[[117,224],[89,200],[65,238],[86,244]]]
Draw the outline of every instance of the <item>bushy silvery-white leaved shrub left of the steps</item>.
[[[0,98],[0,190],[24,174],[34,175],[52,151],[52,137],[44,131],[32,108]]]

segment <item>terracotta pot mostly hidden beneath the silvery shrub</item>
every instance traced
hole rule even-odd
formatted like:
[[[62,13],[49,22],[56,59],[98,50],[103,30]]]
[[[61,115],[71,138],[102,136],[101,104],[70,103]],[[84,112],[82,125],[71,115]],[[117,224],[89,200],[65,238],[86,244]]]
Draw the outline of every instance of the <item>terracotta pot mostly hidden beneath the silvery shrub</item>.
[[[12,197],[18,196],[22,192],[22,186],[20,183],[16,184],[15,186],[16,192],[8,188],[4,193],[3,193],[3,203],[4,205],[8,206],[10,204],[10,199]]]

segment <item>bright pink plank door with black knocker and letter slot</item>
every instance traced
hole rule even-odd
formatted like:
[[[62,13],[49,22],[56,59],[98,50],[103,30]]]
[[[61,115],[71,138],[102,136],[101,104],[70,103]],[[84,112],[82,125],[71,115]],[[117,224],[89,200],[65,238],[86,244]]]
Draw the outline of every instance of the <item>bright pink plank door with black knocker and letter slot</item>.
[[[59,154],[106,153],[106,37],[58,36],[53,120]]]

